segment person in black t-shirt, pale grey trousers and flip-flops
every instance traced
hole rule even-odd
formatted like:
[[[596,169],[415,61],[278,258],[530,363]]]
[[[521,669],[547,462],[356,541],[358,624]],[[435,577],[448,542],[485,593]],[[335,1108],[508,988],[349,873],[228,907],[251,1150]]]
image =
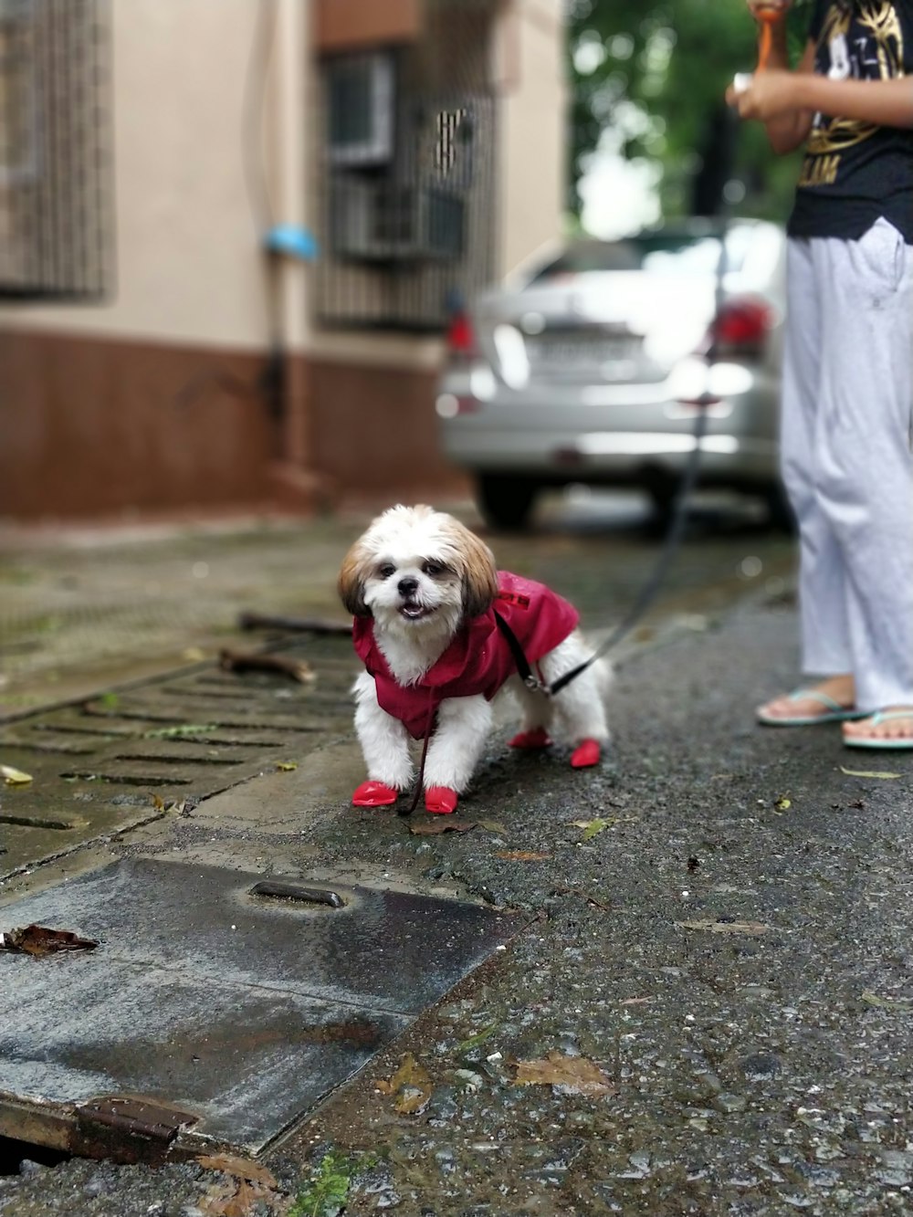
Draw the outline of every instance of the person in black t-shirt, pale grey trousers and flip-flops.
[[[788,224],[782,465],[800,532],[802,667],[758,707],[913,748],[913,0],[813,0],[789,69],[789,2],[764,71],[727,100],[775,152],[806,144]]]

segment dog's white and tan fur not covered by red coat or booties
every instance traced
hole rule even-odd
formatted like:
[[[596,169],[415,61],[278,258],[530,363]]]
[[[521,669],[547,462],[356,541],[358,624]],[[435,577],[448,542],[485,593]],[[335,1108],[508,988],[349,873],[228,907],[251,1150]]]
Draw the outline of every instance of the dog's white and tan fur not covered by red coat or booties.
[[[481,612],[491,602],[494,559],[477,537],[453,517],[431,507],[391,507],[353,545],[340,577],[340,589],[353,611],[374,618],[376,643],[394,678],[414,684],[439,658],[460,628],[467,605]],[[487,594],[484,593],[487,589]],[[575,632],[540,661],[547,682],[590,655]],[[571,745],[609,740],[604,694],[609,667],[587,668],[556,697],[528,690],[519,678],[508,682],[522,708],[522,729],[553,729]],[[355,731],[368,776],[396,790],[414,778],[410,738],[403,724],[377,705],[374,679],[366,672],[353,689]],[[429,742],[424,785],[461,793],[469,785],[492,727],[492,706],[483,696],[442,702]]]

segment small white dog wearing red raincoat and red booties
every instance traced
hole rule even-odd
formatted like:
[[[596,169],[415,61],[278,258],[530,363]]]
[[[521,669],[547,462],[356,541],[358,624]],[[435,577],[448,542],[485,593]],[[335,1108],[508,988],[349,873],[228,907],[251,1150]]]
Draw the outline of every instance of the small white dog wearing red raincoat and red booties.
[[[590,654],[577,610],[540,583],[498,571],[488,546],[458,520],[424,505],[391,507],[346,555],[338,588],[366,669],[353,689],[368,767],[355,806],[394,803],[414,775],[409,738],[430,735],[425,807],[455,811],[492,725],[491,699],[504,685],[523,712],[511,747],[547,747],[554,722],[573,746],[575,768],[599,762],[609,740],[607,664],[587,667],[549,697],[520,680],[495,617],[551,683]]]

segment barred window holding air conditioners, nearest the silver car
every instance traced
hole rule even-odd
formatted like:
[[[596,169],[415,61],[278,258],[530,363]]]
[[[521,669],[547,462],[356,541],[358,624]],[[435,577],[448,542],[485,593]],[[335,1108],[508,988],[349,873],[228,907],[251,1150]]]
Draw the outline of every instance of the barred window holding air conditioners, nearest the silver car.
[[[435,332],[491,282],[493,0],[425,0],[414,45],[327,58],[318,319]]]

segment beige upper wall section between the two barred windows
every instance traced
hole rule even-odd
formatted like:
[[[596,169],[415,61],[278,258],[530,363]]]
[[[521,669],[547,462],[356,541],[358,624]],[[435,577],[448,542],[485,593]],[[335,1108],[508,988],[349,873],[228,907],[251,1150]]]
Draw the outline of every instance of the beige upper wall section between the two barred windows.
[[[2,309],[4,325],[264,346],[265,217],[247,181],[265,172],[275,219],[296,218],[308,156],[293,108],[310,63],[307,6],[279,0],[270,29],[270,6],[256,0],[112,0],[114,295],[101,308]],[[270,144],[251,138],[252,111]],[[299,344],[303,303],[289,290]]]

